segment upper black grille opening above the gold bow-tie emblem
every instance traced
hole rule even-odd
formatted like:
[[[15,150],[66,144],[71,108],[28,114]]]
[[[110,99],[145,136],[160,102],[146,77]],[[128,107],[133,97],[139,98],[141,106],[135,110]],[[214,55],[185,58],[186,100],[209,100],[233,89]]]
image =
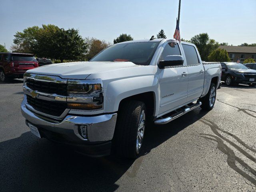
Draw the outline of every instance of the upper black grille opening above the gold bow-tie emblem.
[[[44,82],[28,78],[26,85],[32,90],[68,96],[68,86],[66,83]]]

